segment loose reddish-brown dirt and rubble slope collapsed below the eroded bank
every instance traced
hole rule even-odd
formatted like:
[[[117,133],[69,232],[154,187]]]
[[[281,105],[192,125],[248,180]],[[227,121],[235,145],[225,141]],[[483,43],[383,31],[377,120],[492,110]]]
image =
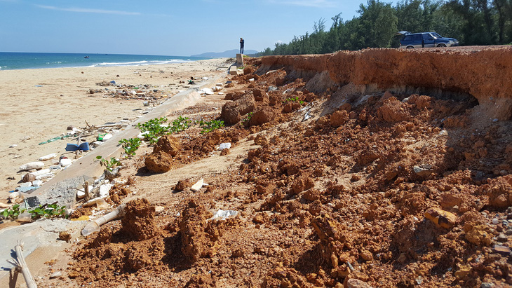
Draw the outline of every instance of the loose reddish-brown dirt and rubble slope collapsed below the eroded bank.
[[[480,117],[479,102],[459,93],[361,92],[305,64],[261,61],[269,59],[250,60],[245,75],[231,78],[237,85],[217,114],[231,126],[177,133],[151,154],[176,163],[162,179],[228,157],[215,152],[223,142],[239,153],[236,164],[153,190],[142,186],[149,176],[133,176],[133,189],[154,193],[165,212],[128,203],[123,220],[75,253],[77,284],[512,284],[509,118]],[[198,177],[208,186],[190,191]],[[238,214],[213,219],[219,209]]]

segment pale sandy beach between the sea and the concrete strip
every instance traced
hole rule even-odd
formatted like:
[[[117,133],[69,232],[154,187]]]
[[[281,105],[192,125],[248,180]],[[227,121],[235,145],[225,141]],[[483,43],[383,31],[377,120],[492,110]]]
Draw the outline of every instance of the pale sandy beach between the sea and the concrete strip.
[[[0,202],[21,184],[26,172],[20,165],[38,161],[41,156],[57,153],[45,162],[49,167],[58,162],[67,143],[76,143],[76,137],[48,139],[65,135],[67,127],[103,125],[121,120],[134,121],[151,106],[190,88],[188,79],[196,83],[201,78],[225,74],[231,63],[226,58],[196,62],[128,67],[79,67],[58,69],[20,69],[0,71]],[[142,92],[151,92],[154,100],[144,107],[144,97],[114,97],[113,90],[123,87],[100,86],[97,83],[115,81],[120,85],[140,86]],[[180,83],[180,81],[184,83]],[[145,87],[144,87],[145,85]],[[105,88],[109,90],[105,90]],[[144,89],[142,89],[144,88]],[[103,90],[90,93],[90,90]],[[157,92],[153,92],[156,90]],[[135,99],[134,99],[135,98]],[[94,138],[94,136],[92,136]],[[90,137],[88,139],[91,139]]]

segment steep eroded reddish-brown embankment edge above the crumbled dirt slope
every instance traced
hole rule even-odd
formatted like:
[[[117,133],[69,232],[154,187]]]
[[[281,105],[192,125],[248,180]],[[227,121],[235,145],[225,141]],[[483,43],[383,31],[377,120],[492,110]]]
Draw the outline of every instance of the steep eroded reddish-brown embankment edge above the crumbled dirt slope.
[[[423,92],[473,96],[489,118],[512,116],[512,48],[366,49],[328,55],[269,56],[259,74],[285,67],[290,76],[327,72],[332,83],[361,85],[364,92]]]

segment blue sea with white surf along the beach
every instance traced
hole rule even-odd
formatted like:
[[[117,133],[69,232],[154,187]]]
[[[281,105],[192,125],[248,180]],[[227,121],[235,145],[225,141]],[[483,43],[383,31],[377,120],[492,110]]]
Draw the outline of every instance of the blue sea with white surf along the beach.
[[[60,67],[142,66],[206,59],[210,58],[128,54],[0,52],[0,70]]]

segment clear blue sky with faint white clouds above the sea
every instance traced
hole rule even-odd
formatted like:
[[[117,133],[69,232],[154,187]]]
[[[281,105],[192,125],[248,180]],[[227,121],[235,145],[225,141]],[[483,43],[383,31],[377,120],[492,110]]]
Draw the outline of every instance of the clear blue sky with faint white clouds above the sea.
[[[393,1],[383,1],[392,3]],[[0,52],[189,56],[273,49],[366,0],[0,0]],[[393,4],[394,5],[394,4]]]

